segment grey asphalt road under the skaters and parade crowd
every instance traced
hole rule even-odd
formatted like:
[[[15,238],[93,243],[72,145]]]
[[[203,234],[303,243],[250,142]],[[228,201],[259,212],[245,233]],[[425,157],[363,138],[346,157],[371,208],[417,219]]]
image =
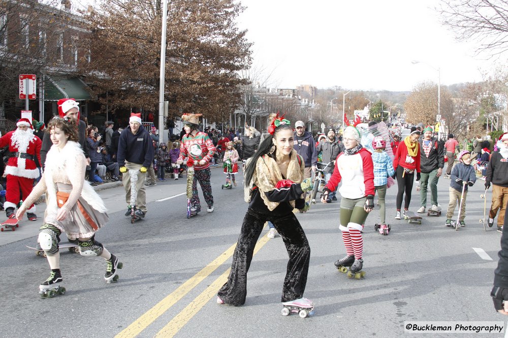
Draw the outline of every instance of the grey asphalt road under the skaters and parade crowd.
[[[467,197],[467,226],[457,232],[444,227],[443,215],[425,214],[421,225],[393,219],[396,186],[391,187],[387,220],[392,232],[388,236],[374,232],[373,224],[379,220],[376,208],[364,231],[362,280],[347,278],[333,265],[345,254],[338,230],[339,203],[318,203],[309,212],[298,213],[311,247],[305,296],[314,301],[315,314],[306,319],[280,314],[288,255],[280,237],[266,238],[267,228],[248,274],[246,304],[215,303],[247,208],[242,189],[221,190],[223,183],[221,170],[212,169],[215,211],[190,219],[185,217],[184,179],[149,187],[147,216],[136,224],[123,215],[121,187],[100,192],[110,222],[96,238],[123,262],[120,280],[105,283],[102,258],[63,251],[62,285],[67,293],[51,299],[38,294],[38,285],[49,275],[47,261],[25,247],[35,244],[42,222],[24,221],[19,232],[1,233],[0,335],[392,337],[405,334],[404,321],[504,321],[489,296],[501,234],[495,228],[485,232],[478,221],[483,217],[481,180]],[[438,184],[444,209],[449,183],[441,178]],[[414,189],[410,210],[416,211],[418,204]],[[23,235],[7,239],[16,234]],[[484,258],[490,259],[474,248],[484,250],[488,255]]]

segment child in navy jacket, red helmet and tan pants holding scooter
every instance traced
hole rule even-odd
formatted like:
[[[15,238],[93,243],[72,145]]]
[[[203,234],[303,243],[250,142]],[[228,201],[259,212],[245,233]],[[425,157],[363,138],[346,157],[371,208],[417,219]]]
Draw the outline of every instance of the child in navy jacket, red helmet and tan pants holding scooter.
[[[459,225],[465,227],[466,223],[464,218],[466,216],[466,196],[468,186],[473,186],[476,182],[476,174],[474,168],[471,165],[471,153],[464,150],[459,154],[459,163],[453,167],[450,175],[450,201],[448,202],[448,210],[446,213],[446,222],[444,225],[447,227],[454,227],[452,222],[453,212],[457,203],[460,204],[461,198],[462,205],[459,210]],[[464,196],[462,196],[462,190],[464,190]]]

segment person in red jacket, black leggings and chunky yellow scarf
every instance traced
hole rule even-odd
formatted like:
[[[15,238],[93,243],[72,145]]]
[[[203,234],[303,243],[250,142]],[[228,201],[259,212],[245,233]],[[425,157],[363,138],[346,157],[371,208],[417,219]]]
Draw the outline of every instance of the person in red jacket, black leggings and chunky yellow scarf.
[[[404,211],[403,216],[407,215],[409,203],[411,202],[411,190],[413,181],[420,180],[420,145],[418,139],[420,138],[420,131],[416,127],[411,128],[411,134],[406,136],[404,142],[401,142],[397,147],[393,159],[393,168],[395,169],[395,177],[397,178],[398,192],[397,192],[397,211],[395,219],[401,218],[400,208],[402,206],[402,197],[404,198]]]

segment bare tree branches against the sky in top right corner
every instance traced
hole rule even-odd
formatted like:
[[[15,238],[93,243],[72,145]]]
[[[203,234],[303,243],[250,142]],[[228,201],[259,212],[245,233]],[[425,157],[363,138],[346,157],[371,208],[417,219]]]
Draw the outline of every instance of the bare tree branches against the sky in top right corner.
[[[492,57],[508,50],[508,1],[442,0],[438,11],[457,39],[479,43],[477,52]]]

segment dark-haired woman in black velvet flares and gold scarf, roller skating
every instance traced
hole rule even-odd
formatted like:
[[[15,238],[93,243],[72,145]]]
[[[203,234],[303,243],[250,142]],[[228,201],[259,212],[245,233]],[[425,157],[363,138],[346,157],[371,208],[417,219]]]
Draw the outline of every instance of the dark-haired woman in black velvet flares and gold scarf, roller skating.
[[[265,222],[270,220],[290,257],[281,301],[298,304],[297,307],[304,304],[309,308],[312,302],[302,297],[307,283],[310,247],[293,209],[305,206],[301,196],[304,191],[310,191],[311,182],[310,179],[303,180],[304,163],[293,150],[290,122],[277,117],[269,127],[269,133],[245,167],[245,201],[249,206],[228,282],[218,291],[217,303],[235,306],[245,303],[247,272],[253,250]]]

